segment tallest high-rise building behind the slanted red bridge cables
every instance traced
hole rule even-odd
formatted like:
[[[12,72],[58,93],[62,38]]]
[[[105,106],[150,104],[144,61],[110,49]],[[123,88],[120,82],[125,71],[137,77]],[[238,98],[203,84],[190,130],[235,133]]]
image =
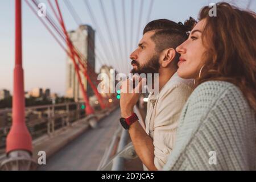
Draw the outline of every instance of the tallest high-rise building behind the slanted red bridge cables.
[[[88,25],[81,25],[77,30],[69,32],[69,37],[75,47],[87,60],[84,63],[85,67],[88,68],[88,75],[90,72],[95,71],[95,32],[92,27]],[[89,66],[89,67],[88,67]],[[88,81],[84,77],[84,74],[80,71],[82,78],[82,84],[86,90],[88,97],[93,96],[93,90],[90,87]],[[82,92],[79,88],[79,81],[76,76],[75,67],[70,57],[67,58],[67,80],[66,80],[66,97],[74,98],[75,101],[82,100]]]

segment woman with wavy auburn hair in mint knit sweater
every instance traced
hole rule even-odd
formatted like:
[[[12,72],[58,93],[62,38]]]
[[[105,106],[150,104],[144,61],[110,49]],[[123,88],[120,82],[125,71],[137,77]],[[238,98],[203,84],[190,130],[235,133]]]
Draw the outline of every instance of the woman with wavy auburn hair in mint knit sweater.
[[[166,170],[256,169],[256,15],[217,3],[176,48],[177,73],[196,89],[180,117]]]

